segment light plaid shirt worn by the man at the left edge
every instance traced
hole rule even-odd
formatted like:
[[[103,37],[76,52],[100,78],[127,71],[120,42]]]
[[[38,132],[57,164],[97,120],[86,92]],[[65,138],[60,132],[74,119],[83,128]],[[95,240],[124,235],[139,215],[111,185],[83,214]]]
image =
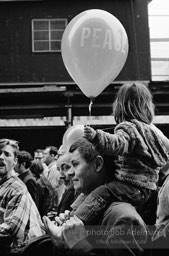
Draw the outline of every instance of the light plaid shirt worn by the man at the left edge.
[[[42,225],[25,184],[12,175],[0,185],[0,237],[21,244],[43,235]]]

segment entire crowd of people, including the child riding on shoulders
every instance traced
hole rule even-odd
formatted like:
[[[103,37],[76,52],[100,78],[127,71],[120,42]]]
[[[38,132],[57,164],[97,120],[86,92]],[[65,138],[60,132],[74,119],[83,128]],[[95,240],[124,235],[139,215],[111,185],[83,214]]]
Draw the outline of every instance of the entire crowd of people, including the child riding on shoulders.
[[[148,87],[121,86],[113,115],[113,134],[84,126],[69,148],[33,156],[0,139],[3,256],[169,252],[169,139]]]

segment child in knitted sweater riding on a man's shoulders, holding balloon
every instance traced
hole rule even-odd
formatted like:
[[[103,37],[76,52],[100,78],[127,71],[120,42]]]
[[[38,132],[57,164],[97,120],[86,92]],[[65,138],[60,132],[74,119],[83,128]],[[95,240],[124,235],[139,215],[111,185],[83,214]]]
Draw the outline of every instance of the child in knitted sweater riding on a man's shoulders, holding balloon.
[[[120,87],[113,113],[117,122],[114,134],[85,126],[84,137],[100,153],[116,158],[116,168],[112,170],[114,179],[93,191],[78,208],[76,215],[84,223],[90,224],[108,204],[124,201],[135,206],[145,217],[145,206],[149,200],[150,212],[146,213],[149,217],[145,217],[149,224],[148,221],[151,222],[155,214],[159,171],[168,161],[169,140],[152,124],[152,95],[142,83]],[[151,203],[153,207],[150,207]]]

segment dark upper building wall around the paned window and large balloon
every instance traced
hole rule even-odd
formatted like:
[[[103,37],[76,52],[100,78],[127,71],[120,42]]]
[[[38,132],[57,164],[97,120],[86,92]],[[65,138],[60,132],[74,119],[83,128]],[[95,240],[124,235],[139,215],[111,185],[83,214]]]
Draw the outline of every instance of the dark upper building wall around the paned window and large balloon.
[[[0,84],[72,81],[61,53],[33,53],[31,20],[67,18],[103,9],[123,24],[129,39],[126,64],[118,81],[151,77],[147,0],[0,2]]]

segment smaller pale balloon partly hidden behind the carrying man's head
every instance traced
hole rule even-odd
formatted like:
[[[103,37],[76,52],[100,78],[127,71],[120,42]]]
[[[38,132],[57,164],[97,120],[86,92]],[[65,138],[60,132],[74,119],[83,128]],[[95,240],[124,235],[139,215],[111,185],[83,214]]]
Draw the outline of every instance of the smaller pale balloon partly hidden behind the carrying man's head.
[[[84,125],[77,124],[70,126],[63,135],[62,144],[70,147],[75,141],[82,138],[84,134]]]

